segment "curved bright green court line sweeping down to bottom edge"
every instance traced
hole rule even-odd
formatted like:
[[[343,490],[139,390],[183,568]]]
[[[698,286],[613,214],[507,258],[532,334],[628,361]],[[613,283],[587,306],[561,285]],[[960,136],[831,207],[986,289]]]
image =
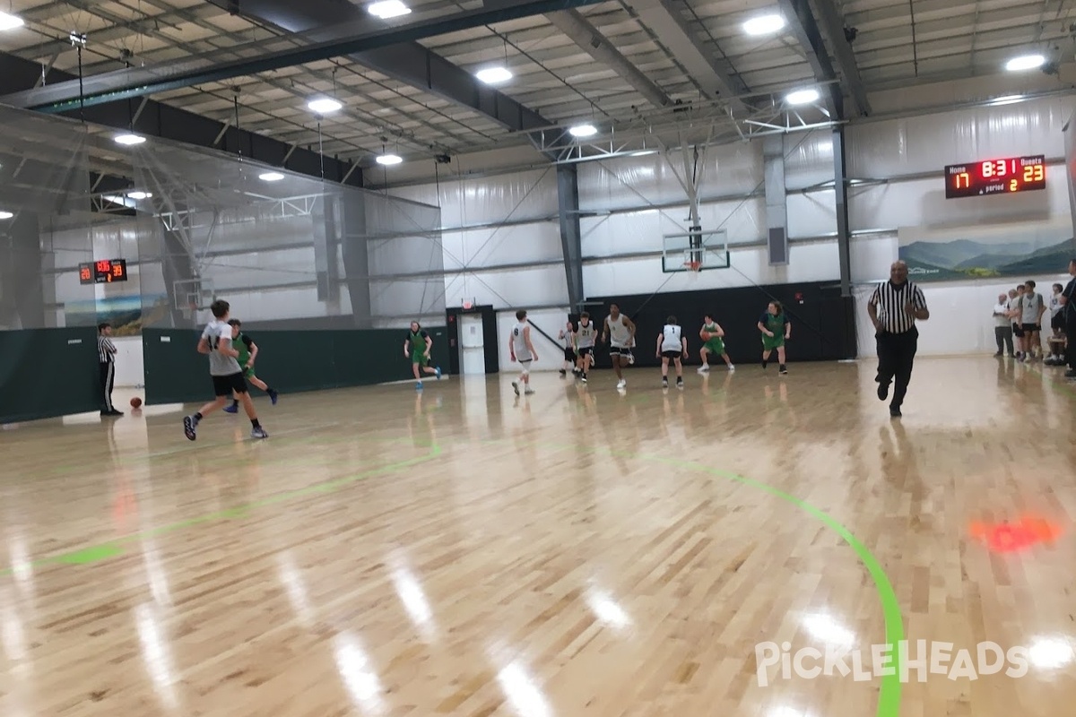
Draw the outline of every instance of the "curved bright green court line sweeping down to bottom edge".
[[[505,440],[489,439],[486,443],[508,443]],[[761,481],[755,481],[753,478],[748,478],[746,476],[733,473],[731,471],[723,471],[721,469],[711,468],[703,463],[696,463],[693,461],[678,460],[676,458],[663,458],[662,456],[651,456],[651,455],[632,455],[631,453],[623,450],[610,450],[609,448],[595,448],[591,446],[565,446],[558,444],[541,444],[535,443],[533,445],[542,446],[546,448],[555,448],[560,450],[586,450],[589,453],[606,453],[610,456],[618,456],[621,458],[641,458],[655,463],[664,463],[666,465],[674,465],[676,468],[685,468],[693,471],[702,471],[704,473],[709,473],[710,475],[717,476],[719,478],[724,478],[726,481],[733,481],[741,485],[758,488],[759,490],[765,491],[775,498],[779,498],[792,505],[795,505],[799,510],[804,511],[808,515],[817,518],[826,528],[831,529],[837,535],[840,536],[845,543],[848,544],[855,555],[859,557],[860,562],[863,567],[867,569],[870,574],[872,579],[874,579],[875,588],[878,591],[878,598],[881,601],[882,616],[886,622],[886,643],[889,645],[890,653],[892,655],[892,660],[888,663],[888,666],[893,669],[893,674],[883,675],[881,677],[881,686],[878,692],[878,708],[875,712],[876,717],[900,717],[901,714],[901,694],[902,694],[902,684],[901,684],[901,665],[900,665],[900,653],[897,650],[897,644],[904,640],[904,620],[901,616],[901,602],[896,598],[896,592],[893,590],[893,585],[886,574],[884,569],[878,559],[875,558],[874,554],[870,553],[869,548],[865,546],[855,535],[851,533],[848,528],[841,525],[836,518],[827,514],[825,511],[811,505],[805,500],[796,498],[791,493],[787,493],[780,488],[775,488],[768,484],[762,483]]]

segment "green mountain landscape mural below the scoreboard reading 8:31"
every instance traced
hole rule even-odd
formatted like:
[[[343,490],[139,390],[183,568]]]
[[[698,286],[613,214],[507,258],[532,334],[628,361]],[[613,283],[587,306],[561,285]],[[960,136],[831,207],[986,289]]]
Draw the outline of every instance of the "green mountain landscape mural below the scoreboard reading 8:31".
[[[901,242],[898,257],[918,282],[1039,276],[1063,273],[1076,252],[1072,238],[1038,241],[954,239]]]

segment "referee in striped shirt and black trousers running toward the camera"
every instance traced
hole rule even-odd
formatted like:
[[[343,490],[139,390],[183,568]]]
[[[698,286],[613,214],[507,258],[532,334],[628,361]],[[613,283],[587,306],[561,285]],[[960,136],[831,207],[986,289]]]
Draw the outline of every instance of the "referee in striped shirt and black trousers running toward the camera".
[[[923,292],[908,281],[908,264],[893,262],[889,268],[889,281],[879,284],[870,296],[867,314],[875,325],[878,342],[878,376],[875,378],[878,382],[878,399],[884,401],[889,398],[889,385],[895,379],[889,415],[898,417],[918,348],[916,319],[925,321],[931,317]]]

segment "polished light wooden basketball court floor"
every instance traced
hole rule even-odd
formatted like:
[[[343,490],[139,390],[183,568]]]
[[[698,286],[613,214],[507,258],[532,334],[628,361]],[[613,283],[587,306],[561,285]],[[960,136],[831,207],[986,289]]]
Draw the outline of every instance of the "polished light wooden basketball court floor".
[[[872,363],[790,369],[5,427],[0,715],[1071,714],[1076,386],[920,359],[892,420]],[[1027,674],[760,685],[901,636]]]

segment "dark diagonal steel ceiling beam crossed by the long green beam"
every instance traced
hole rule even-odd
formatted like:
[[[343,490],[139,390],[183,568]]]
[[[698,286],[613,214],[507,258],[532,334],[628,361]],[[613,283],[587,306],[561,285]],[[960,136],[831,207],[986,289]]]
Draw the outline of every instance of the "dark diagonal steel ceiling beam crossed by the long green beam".
[[[303,33],[312,40],[324,28],[354,26],[365,13],[351,3],[331,0],[210,0],[241,17],[272,25],[281,30]],[[236,8],[238,5],[238,9]],[[534,110],[504,92],[481,84],[471,73],[453,64],[417,42],[378,47],[348,56],[371,70],[436,95],[457,105],[490,117],[507,129],[519,132],[548,127],[550,123]]]

